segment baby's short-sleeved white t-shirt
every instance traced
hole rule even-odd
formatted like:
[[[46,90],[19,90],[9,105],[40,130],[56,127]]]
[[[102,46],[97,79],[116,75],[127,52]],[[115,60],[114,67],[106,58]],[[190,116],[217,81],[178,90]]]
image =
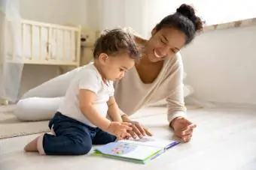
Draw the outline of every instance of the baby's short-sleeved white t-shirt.
[[[96,100],[93,106],[102,116],[108,112],[107,102],[110,97],[114,96],[113,82],[103,82],[102,76],[93,63],[87,64],[79,70],[71,85],[69,85],[63,102],[60,104],[58,112],[77,121],[81,121],[90,127],[96,127],[81,112],[79,107],[79,90],[87,89],[96,94]]]

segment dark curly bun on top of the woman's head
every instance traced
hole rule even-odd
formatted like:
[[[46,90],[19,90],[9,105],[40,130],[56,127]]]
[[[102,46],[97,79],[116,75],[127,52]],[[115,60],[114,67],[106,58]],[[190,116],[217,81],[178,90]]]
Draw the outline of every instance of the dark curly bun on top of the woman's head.
[[[196,31],[200,31],[203,28],[202,20],[196,16],[194,7],[189,4],[181,4],[181,6],[176,10],[176,13],[180,13],[182,16],[190,19],[194,23]]]

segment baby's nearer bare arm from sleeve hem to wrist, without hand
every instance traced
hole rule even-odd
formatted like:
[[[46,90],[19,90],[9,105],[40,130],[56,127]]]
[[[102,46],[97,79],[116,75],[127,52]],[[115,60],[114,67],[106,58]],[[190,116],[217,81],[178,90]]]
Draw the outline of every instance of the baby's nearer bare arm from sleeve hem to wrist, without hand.
[[[111,124],[107,118],[100,115],[93,106],[96,99],[96,94],[93,91],[80,89],[79,91],[79,106],[81,112],[88,118],[88,120],[102,130],[107,131]]]

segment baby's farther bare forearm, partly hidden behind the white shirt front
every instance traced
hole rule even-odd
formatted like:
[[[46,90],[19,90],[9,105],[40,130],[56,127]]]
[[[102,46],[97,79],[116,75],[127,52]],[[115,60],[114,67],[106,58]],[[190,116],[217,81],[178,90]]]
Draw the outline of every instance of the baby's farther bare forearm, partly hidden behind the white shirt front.
[[[112,121],[123,121],[120,115],[120,109],[117,106],[114,96],[110,97],[108,100],[108,115]]]

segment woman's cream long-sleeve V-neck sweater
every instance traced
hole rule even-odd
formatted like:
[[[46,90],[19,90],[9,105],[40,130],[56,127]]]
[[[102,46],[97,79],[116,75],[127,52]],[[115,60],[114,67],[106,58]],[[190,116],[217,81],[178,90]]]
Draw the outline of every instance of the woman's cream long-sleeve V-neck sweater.
[[[133,115],[143,106],[166,99],[168,121],[178,116],[186,117],[183,72],[179,53],[164,61],[160,74],[151,84],[143,83],[136,67],[133,67],[123,79],[114,83],[114,97],[126,115]]]

